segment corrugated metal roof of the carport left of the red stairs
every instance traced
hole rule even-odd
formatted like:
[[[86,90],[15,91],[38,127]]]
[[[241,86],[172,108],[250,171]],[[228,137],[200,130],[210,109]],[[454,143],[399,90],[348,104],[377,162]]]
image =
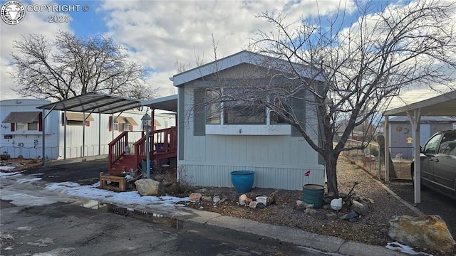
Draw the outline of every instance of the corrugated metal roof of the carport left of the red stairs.
[[[133,110],[136,107],[141,107],[140,100],[106,95],[98,92],[88,92],[84,95],[53,102],[37,108],[43,110],[114,114],[125,110]]]

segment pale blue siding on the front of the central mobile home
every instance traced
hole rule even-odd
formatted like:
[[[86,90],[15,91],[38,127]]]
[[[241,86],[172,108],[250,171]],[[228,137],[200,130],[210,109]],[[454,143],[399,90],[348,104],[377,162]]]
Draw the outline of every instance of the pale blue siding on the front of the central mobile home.
[[[180,87],[185,95],[179,116],[186,117],[180,127],[178,166],[185,169],[185,178],[196,186],[232,186],[230,171],[255,171],[254,186],[261,188],[302,189],[305,183],[323,184],[324,166],[318,164],[318,154],[302,137],[289,135],[214,135],[194,136],[192,114],[194,89],[190,82]],[[182,100],[180,100],[181,104]],[[311,105],[306,104],[306,131],[315,131],[318,120]],[[311,171],[310,176],[304,176]]]

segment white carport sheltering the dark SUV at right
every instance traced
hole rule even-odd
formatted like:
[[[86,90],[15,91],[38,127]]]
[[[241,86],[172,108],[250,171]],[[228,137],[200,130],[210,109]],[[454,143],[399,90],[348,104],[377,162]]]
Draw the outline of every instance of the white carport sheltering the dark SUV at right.
[[[385,159],[390,157],[390,127],[388,124],[389,116],[407,116],[413,127],[414,138],[414,158],[420,159],[420,119],[423,116],[456,116],[456,90],[447,92],[437,97],[415,102],[410,105],[387,110],[385,116]],[[385,164],[385,181],[389,181],[390,169]],[[420,161],[415,161],[415,203],[421,203],[421,181],[420,181]]]

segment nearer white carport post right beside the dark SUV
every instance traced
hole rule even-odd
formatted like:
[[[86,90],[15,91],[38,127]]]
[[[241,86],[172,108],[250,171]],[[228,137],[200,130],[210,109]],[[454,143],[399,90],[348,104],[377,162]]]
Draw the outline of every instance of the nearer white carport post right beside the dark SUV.
[[[407,116],[408,119],[410,120],[410,124],[412,124],[413,131],[415,132],[415,142],[413,143],[413,152],[414,152],[414,158],[415,158],[415,168],[413,170],[413,177],[414,177],[414,194],[415,194],[415,203],[421,203],[421,146],[420,146],[420,119],[421,119],[421,114],[420,110],[413,110],[412,113],[407,111]]]

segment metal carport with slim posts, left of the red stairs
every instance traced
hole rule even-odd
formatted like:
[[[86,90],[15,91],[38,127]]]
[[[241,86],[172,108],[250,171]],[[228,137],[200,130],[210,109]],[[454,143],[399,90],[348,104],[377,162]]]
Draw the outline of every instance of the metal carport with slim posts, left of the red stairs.
[[[103,93],[98,93],[98,92],[88,92],[84,95],[79,95],[76,97],[72,97],[66,100],[61,100],[58,102],[53,102],[48,105],[42,105],[40,107],[37,107],[38,109],[41,109],[43,111],[43,156],[46,155],[45,151],[45,134],[46,134],[46,127],[44,119],[50,114],[53,110],[60,110],[65,112],[66,116],[66,111],[71,111],[71,112],[82,112],[82,121],[86,122],[88,118],[90,118],[91,114],[98,113],[100,114],[115,114],[115,113],[122,113],[125,110],[133,110],[136,107],[141,107],[141,101],[140,100],[135,100],[135,99],[130,99],[126,97],[118,97],[114,95],[106,95]],[[48,112],[46,113],[46,110]],[[119,115],[120,115],[119,114]],[[100,122],[100,118],[98,118],[98,121]],[[63,128],[63,159],[66,159],[66,122],[64,122],[64,128]],[[98,125],[98,145],[101,144],[100,142],[100,134],[101,134],[101,125]],[[82,156],[85,156],[84,152],[84,146],[85,146],[85,129],[86,126],[83,125],[83,148],[82,148]],[[98,146],[98,155],[100,155],[100,146]],[[45,164],[46,159],[43,157],[43,165]]]

